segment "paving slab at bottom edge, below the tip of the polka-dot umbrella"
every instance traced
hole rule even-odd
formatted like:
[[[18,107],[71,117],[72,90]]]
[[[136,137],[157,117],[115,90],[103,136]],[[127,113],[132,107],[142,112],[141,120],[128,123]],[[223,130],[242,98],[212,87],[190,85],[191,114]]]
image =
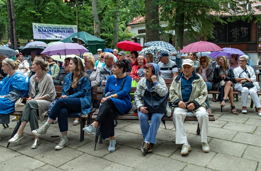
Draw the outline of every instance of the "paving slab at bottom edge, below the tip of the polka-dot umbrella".
[[[59,168],[63,170],[77,170],[77,171],[86,171],[86,170],[103,170],[112,162],[98,158],[89,154],[84,154],[80,157],[74,158],[73,160],[66,162],[61,165]]]

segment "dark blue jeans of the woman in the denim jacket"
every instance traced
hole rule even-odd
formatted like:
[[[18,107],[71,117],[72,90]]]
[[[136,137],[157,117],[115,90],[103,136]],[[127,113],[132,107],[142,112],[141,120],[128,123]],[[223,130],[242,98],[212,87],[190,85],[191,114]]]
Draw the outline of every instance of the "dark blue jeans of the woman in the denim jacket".
[[[79,98],[62,98],[57,100],[53,109],[50,112],[49,118],[56,120],[59,119],[60,132],[68,131],[68,116],[80,117],[82,115],[82,105]]]

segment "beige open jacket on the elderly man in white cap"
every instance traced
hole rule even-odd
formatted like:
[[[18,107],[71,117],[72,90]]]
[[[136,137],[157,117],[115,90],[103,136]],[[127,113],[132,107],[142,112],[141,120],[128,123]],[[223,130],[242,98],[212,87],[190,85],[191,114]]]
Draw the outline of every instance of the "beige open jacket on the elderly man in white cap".
[[[205,100],[208,95],[207,86],[205,84],[204,79],[194,72],[194,81],[192,82],[192,93],[190,95],[188,104],[193,102],[196,106],[195,109],[198,109],[199,107],[204,107],[207,109],[207,105],[205,103]],[[179,101],[182,101],[182,93],[181,93],[181,75],[183,72],[181,72],[179,75],[177,75],[174,80],[172,81],[172,84],[169,89],[169,97],[170,101],[174,103],[174,105],[178,105]],[[193,113],[195,113],[195,110],[191,110]]]

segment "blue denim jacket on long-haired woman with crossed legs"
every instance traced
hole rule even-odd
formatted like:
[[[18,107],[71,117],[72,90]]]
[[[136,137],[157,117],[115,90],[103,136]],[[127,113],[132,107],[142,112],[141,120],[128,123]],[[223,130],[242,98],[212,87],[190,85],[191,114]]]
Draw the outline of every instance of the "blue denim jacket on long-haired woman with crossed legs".
[[[81,100],[82,113],[88,114],[92,110],[91,105],[91,81],[89,78],[83,76],[77,83],[77,88],[73,88],[74,94],[69,95],[69,89],[73,82],[73,72],[69,73],[63,81],[62,95],[67,95],[68,98],[74,97]]]

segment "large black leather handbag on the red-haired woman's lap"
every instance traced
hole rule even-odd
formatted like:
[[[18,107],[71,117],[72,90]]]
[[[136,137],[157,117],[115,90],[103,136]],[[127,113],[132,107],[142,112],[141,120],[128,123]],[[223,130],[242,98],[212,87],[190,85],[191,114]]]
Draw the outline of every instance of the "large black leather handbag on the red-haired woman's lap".
[[[161,97],[155,91],[148,91],[147,89],[143,94],[144,107],[147,107],[147,111],[151,113],[165,113],[168,104],[169,92],[165,97]]]

